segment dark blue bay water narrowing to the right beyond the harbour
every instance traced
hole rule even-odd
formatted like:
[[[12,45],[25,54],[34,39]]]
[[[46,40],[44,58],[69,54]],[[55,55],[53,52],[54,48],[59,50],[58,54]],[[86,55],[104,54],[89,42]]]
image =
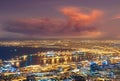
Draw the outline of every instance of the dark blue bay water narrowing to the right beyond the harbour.
[[[30,47],[0,47],[0,59],[10,59],[15,56],[20,56],[24,54],[34,54],[37,52],[46,52],[46,51],[60,51],[68,49],[60,48],[30,48]]]

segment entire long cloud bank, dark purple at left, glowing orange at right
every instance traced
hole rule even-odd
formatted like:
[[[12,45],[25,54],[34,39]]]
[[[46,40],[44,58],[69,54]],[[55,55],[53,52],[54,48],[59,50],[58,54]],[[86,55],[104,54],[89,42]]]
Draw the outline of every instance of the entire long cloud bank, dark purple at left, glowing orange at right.
[[[101,32],[94,22],[101,16],[98,10],[85,14],[80,8],[62,8],[61,13],[66,20],[53,18],[32,18],[8,21],[4,24],[7,32],[21,33],[28,36],[80,36],[97,37]]]

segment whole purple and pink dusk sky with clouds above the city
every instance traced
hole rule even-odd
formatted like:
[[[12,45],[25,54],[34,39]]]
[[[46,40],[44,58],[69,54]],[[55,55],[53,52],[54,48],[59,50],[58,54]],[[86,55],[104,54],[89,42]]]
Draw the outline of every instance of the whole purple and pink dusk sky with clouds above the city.
[[[120,38],[120,0],[0,0],[0,39]]]

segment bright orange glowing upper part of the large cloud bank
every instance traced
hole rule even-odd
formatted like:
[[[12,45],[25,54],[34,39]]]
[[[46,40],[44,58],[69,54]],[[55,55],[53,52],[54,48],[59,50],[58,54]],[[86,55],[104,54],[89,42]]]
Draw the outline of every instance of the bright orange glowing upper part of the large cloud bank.
[[[103,14],[103,12],[99,10],[91,10],[90,13],[85,14],[82,12],[82,8],[76,7],[62,8],[61,11],[72,20],[72,22],[79,23],[80,25],[90,25]]]

